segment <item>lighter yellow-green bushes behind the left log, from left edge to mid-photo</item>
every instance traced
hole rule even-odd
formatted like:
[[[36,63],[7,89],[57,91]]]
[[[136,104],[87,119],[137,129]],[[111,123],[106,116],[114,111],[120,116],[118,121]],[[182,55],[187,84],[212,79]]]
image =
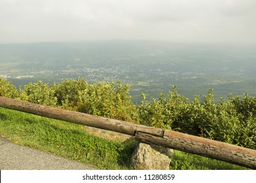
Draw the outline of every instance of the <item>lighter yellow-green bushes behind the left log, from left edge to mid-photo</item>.
[[[42,81],[16,88],[5,79],[0,80],[0,95],[76,110],[97,116],[137,122],[136,105],[129,95],[130,86],[117,82],[88,84],[83,78],[64,80],[50,86]]]

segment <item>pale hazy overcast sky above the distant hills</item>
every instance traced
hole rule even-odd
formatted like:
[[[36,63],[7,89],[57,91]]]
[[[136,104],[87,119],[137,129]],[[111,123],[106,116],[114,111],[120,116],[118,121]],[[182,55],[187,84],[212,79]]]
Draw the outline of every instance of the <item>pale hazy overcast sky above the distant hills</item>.
[[[0,0],[0,43],[256,43],[255,0]]]

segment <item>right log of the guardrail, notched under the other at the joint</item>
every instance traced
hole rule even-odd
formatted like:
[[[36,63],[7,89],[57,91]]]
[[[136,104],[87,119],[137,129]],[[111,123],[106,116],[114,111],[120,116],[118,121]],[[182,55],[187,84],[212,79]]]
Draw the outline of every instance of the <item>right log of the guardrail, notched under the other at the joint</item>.
[[[164,131],[163,137],[136,131],[135,138],[146,144],[156,144],[256,169],[256,150],[249,148],[171,130]]]

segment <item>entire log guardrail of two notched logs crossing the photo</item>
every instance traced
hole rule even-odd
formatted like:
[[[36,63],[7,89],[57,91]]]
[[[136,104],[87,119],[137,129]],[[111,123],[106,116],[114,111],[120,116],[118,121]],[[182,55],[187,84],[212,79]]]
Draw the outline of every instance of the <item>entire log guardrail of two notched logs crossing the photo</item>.
[[[256,169],[256,150],[225,142],[213,141],[171,130],[164,131],[156,127],[147,127],[145,125],[93,116],[82,112],[64,110],[62,108],[38,105],[26,101],[9,99],[7,97],[0,97],[0,107],[134,135],[137,141],[147,144],[157,144],[167,148],[174,148],[176,150],[242,165],[250,169]]]

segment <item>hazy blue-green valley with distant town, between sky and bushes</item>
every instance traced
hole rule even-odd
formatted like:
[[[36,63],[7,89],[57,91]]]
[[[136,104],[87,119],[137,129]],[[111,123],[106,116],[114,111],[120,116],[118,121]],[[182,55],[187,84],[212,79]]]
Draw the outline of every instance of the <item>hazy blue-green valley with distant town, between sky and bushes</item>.
[[[154,41],[42,42],[0,44],[0,77],[17,88],[29,82],[60,82],[82,77],[90,83],[131,86],[134,102],[167,94],[172,85],[182,95],[217,99],[256,95],[256,46],[186,44]]]

